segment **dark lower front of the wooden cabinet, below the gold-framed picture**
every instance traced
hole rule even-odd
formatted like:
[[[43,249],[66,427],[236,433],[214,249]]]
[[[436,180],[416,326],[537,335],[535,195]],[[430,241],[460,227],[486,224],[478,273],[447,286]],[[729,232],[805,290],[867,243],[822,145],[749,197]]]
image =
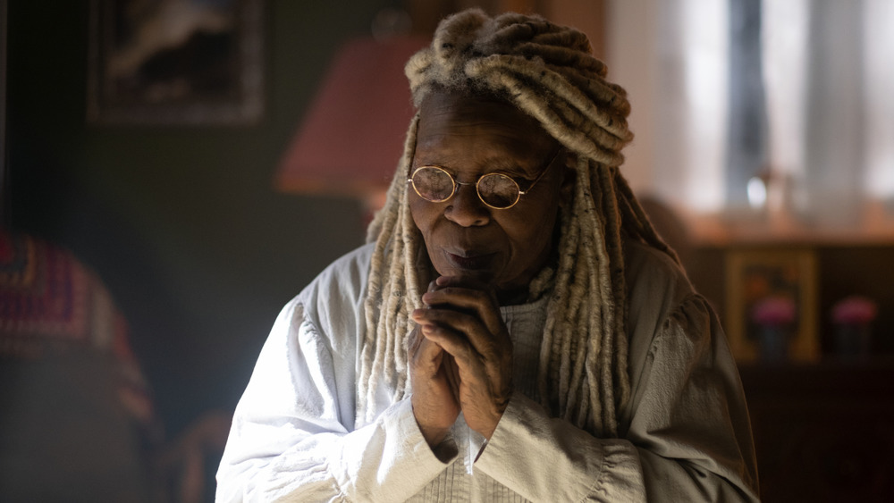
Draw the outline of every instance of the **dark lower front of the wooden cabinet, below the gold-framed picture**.
[[[764,502],[894,501],[894,360],[739,370]]]

